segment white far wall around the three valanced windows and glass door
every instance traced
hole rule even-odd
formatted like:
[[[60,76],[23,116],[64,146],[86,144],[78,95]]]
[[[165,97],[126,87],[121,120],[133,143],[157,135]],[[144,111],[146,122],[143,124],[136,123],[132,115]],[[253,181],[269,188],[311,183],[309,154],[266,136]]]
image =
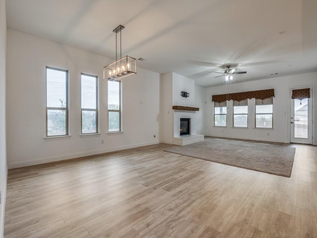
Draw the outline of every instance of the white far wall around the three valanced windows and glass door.
[[[314,94],[313,100],[315,107],[317,106],[316,97],[317,72],[303,73],[297,75],[290,75],[285,77],[274,77],[270,79],[257,80],[252,82],[229,84],[218,87],[210,87],[206,89],[207,109],[205,113],[205,135],[223,136],[229,138],[242,138],[275,142],[290,142],[289,136],[289,109],[290,109],[290,88],[313,86]],[[273,129],[255,129],[254,117],[249,119],[249,128],[232,128],[232,118],[227,119],[227,127],[214,127],[212,116],[212,102],[211,96],[217,94],[245,92],[254,90],[274,89],[275,97],[273,99]],[[249,115],[254,115],[254,99],[249,100],[250,106]],[[227,105],[227,110],[231,113],[232,101]],[[315,110],[315,126],[314,131],[317,135],[317,110]],[[269,135],[267,135],[269,134]],[[315,144],[317,143],[316,136],[314,136]]]

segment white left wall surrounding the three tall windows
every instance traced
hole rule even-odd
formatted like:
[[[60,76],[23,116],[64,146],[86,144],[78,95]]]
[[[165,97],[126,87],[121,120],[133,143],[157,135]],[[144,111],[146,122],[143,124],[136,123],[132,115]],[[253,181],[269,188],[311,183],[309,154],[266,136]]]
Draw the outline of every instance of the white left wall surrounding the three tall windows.
[[[122,79],[123,133],[106,133],[107,82],[102,80],[102,74],[103,66],[111,61],[77,48],[7,30],[9,168],[159,143],[159,73],[140,67],[136,75]],[[69,139],[44,140],[47,65],[69,70]],[[79,136],[81,72],[99,76],[100,136]],[[154,138],[154,134],[157,137]]]

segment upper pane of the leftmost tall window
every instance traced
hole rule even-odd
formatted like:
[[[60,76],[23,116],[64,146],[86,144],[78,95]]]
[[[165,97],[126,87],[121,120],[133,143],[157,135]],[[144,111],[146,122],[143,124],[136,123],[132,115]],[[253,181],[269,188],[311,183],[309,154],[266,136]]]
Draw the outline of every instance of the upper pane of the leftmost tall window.
[[[47,72],[47,107],[66,108],[66,71],[46,69]]]

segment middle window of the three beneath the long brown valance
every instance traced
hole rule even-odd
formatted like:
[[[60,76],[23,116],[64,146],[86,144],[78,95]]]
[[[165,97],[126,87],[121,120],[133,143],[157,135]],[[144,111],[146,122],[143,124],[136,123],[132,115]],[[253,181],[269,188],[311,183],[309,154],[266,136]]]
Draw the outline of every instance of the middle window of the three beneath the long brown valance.
[[[233,101],[233,127],[248,127],[248,99]]]

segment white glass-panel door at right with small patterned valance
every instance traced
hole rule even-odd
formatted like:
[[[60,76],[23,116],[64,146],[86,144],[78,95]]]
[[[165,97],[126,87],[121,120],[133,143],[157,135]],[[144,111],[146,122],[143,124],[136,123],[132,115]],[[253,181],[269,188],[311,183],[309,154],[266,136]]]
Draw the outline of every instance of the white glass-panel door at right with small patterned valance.
[[[291,89],[291,93],[292,93]],[[311,89],[312,95],[312,89]],[[312,97],[291,100],[290,142],[313,144]]]

